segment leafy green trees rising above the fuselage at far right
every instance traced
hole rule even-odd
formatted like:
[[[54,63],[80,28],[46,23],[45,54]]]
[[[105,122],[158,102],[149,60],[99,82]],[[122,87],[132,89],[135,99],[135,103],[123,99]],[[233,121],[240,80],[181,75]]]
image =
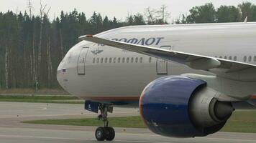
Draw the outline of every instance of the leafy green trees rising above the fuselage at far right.
[[[189,14],[182,14],[175,24],[200,24],[256,21],[256,6],[250,2],[244,2],[238,6],[220,6],[215,9],[211,3],[203,6],[195,6],[189,10]]]

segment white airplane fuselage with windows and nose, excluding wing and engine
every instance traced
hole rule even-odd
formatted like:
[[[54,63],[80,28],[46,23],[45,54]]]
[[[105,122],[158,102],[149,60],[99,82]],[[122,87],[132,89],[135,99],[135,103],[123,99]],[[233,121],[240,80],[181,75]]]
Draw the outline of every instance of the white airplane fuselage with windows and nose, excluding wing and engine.
[[[256,64],[256,23],[127,26],[97,36]],[[209,74],[175,62],[81,41],[61,61],[58,82],[67,92],[83,99],[135,101],[154,79],[186,73]],[[239,80],[239,74],[229,78]],[[242,78],[255,82],[256,74],[250,71]]]

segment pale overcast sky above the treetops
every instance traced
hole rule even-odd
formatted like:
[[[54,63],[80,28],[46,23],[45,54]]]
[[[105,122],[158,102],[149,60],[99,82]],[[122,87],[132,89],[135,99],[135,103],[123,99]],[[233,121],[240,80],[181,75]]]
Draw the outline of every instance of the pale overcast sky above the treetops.
[[[32,13],[40,13],[40,0],[32,1]],[[79,12],[84,12],[87,17],[93,14],[93,11],[101,13],[102,16],[109,16],[113,19],[116,16],[120,21],[124,21],[128,14],[144,14],[145,8],[150,6],[152,9],[159,9],[165,4],[170,12],[170,19],[177,19],[180,14],[189,14],[188,10],[193,6],[204,5],[208,2],[214,4],[215,8],[221,5],[237,6],[243,1],[249,1],[256,4],[256,0],[42,0],[42,4],[47,4],[47,9],[50,8],[49,16],[53,19],[55,16],[60,16],[60,11],[65,12],[77,9]],[[0,11],[28,11],[28,0],[0,0]]]

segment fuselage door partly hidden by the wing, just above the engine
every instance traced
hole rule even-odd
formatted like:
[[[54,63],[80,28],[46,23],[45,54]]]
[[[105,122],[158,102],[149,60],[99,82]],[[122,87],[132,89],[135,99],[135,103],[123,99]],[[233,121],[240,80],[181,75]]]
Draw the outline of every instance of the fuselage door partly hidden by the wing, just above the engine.
[[[170,46],[160,46],[160,49],[170,50]],[[163,59],[157,59],[157,74],[168,74],[168,62]]]

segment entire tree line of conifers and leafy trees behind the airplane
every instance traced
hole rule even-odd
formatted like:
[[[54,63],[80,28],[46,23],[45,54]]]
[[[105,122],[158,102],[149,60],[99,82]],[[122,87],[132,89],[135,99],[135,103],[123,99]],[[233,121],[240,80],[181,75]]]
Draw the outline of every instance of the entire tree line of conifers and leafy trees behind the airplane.
[[[0,12],[0,89],[59,88],[56,80],[58,64],[78,36],[97,34],[121,26],[168,24],[167,6],[160,9],[147,7],[144,14],[130,14],[125,21],[101,16],[94,12],[86,17],[76,9],[70,13],[48,18],[46,5],[40,14],[13,11]],[[173,24],[256,21],[256,6],[249,2],[238,6],[220,6],[209,3],[193,7]]]

